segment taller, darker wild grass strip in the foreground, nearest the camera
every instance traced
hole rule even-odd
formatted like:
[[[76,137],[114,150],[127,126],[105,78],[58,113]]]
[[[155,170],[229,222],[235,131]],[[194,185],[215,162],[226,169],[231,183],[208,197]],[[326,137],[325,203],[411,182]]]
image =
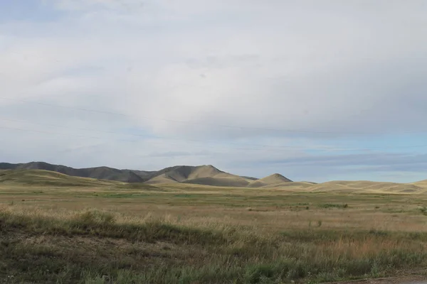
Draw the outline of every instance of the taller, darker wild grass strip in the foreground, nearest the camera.
[[[427,234],[330,230],[262,234],[97,210],[55,218],[0,212],[5,283],[319,283],[427,266]]]

